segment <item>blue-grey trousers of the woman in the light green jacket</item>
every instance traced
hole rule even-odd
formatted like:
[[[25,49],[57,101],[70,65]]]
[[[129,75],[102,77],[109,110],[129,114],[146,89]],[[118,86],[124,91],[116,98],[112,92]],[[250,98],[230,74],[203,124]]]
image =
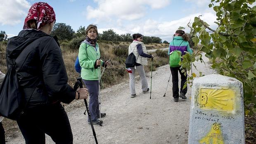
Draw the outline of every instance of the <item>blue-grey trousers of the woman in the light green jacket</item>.
[[[100,116],[99,110],[99,81],[98,80],[84,80],[85,87],[88,89],[90,93],[89,100],[89,111],[92,118],[92,121],[97,119],[97,116]],[[89,122],[89,117],[88,117]]]

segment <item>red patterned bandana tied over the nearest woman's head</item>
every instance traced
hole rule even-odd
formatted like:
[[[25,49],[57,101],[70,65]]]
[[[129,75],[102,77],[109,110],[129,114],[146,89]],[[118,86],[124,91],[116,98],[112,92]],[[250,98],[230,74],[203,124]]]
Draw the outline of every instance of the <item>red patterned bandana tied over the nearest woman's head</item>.
[[[27,22],[31,19],[36,19],[37,29],[40,29],[43,25],[55,21],[55,12],[46,2],[36,2],[28,10],[23,29],[28,28]]]

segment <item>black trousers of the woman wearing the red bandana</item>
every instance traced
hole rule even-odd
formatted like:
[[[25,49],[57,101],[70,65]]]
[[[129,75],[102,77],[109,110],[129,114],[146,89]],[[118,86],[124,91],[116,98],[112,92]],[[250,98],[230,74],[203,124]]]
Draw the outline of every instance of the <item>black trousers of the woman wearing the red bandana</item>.
[[[26,144],[45,144],[45,134],[56,144],[73,144],[69,118],[60,103],[36,106],[17,120]]]

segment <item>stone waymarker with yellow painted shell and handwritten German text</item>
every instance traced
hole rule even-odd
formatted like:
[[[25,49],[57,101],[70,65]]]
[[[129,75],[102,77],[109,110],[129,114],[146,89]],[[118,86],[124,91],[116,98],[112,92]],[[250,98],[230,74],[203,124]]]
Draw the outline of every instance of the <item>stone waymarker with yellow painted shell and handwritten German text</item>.
[[[243,85],[211,74],[192,86],[188,144],[244,144]]]

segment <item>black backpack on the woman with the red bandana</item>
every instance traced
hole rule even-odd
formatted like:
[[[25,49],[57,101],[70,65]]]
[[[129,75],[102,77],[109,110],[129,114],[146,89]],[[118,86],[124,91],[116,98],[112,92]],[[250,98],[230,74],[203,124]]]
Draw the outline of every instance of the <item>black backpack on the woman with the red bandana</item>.
[[[17,38],[19,37],[17,36]],[[38,37],[28,39],[26,46],[31,44],[36,39],[38,39]],[[15,62],[17,58],[11,59],[11,64],[8,67],[5,79],[0,87],[0,116],[12,120],[17,120],[24,115],[24,110],[33,94],[33,92],[31,92],[30,97],[26,102],[17,77]],[[33,90],[35,90],[35,88],[36,85]]]

